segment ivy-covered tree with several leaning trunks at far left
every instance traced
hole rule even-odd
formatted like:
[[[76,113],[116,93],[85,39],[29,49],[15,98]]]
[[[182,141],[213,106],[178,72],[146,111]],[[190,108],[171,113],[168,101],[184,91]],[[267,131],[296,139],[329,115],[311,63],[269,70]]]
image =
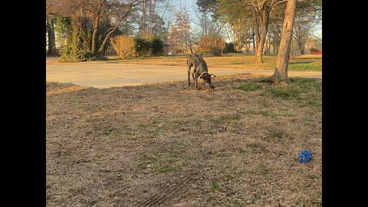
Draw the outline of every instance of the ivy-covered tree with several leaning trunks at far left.
[[[49,14],[71,20],[71,32],[60,60],[77,62],[102,57],[103,50],[121,22],[136,6],[149,0],[50,1]],[[109,22],[111,27],[103,27],[104,22]]]

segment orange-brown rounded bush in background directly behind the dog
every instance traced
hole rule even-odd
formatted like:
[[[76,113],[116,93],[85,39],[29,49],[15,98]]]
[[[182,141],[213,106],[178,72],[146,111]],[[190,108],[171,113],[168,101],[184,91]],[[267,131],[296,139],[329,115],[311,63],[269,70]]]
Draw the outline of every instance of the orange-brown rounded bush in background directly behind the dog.
[[[222,56],[226,47],[225,41],[217,35],[205,35],[198,43],[198,50],[210,52],[214,56]]]

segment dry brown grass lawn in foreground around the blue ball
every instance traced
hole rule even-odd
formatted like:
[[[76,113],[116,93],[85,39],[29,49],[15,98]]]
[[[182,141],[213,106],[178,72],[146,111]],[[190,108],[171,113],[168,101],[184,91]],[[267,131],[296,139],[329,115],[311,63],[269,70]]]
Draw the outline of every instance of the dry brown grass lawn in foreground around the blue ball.
[[[46,206],[322,206],[322,80],[257,78],[46,83]]]

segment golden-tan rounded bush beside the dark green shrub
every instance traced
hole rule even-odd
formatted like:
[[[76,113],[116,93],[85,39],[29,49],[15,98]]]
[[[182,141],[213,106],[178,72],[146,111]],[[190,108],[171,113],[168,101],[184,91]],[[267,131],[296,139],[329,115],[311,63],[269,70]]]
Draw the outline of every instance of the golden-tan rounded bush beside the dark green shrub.
[[[130,36],[118,35],[111,39],[111,45],[120,58],[126,59],[135,53],[135,42]]]

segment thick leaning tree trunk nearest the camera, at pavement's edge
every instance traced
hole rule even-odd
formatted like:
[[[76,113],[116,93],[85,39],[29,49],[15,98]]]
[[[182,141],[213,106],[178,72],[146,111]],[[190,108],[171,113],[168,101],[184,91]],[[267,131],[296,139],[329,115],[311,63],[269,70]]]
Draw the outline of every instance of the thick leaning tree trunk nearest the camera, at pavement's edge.
[[[279,83],[284,81],[290,83],[287,77],[287,69],[289,66],[289,55],[291,38],[293,35],[293,26],[295,20],[295,11],[298,0],[288,0],[286,5],[284,24],[282,25],[281,41],[279,54],[277,55],[275,73],[265,78],[266,82]]]

